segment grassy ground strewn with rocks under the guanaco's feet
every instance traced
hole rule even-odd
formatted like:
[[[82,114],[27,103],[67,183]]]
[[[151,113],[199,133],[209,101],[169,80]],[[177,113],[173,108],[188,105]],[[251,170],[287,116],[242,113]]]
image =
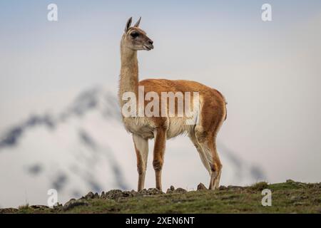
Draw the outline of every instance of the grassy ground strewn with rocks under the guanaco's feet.
[[[272,191],[272,206],[263,207],[263,189]],[[92,193],[54,209],[29,205],[0,209],[0,213],[321,213],[321,183],[304,184],[288,180],[250,187],[220,187],[220,190],[157,190]]]

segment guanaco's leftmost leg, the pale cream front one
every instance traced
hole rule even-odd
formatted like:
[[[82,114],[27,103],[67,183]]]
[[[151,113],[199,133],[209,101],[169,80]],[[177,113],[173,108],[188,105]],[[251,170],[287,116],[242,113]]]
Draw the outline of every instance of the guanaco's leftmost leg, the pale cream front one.
[[[148,158],[148,140],[141,138],[139,135],[133,135],[137,156],[137,170],[138,170],[138,191],[143,190],[145,185],[146,165]]]

